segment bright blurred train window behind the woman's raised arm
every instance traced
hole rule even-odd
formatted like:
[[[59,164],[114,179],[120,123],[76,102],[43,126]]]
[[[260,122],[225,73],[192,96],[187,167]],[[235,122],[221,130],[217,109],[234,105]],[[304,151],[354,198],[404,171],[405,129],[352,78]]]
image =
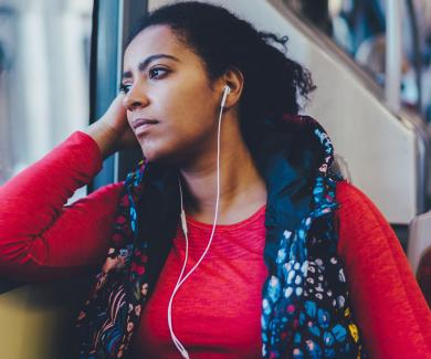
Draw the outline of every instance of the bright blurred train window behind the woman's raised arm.
[[[88,124],[93,1],[0,3],[0,184]]]

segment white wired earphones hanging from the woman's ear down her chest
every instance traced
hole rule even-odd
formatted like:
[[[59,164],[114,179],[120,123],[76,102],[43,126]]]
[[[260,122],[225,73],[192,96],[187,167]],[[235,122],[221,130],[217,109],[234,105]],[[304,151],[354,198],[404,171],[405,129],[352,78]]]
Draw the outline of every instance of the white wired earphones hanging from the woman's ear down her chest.
[[[185,263],[182,264],[182,270],[181,274],[177,281],[177,284],[175,285],[172,295],[170,296],[169,304],[168,304],[168,327],[170,331],[170,337],[172,338],[172,341],[179,352],[181,353],[182,358],[189,359],[189,353],[187,352],[185,346],[179,341],[177,336],[174,332],[174,326],[172,326],[172,303],[174,303],[174,297],[177,294],[179,287],[186,282],[186,279],[190,276],[191,273],[195,272],[195,270],[198,267],[198,265],[202,262],[203,257],[206,256],[208,250],[210,249],[212,237],[214,236],[216,232],[216,224],[217,224],[217,218],[219,214],[219,199],[220,199],[220,125],[221,125],[221,116],[223,114],[223,107],[225,105],[225,101],[228,98],[228,95],[231,93],[231,88],[228,85],[224,85],[223,87],[223,97],[221,99],[220,104],[220,114],[219,114],[219,126],[218,126],[218,131],[217,131],[217,199],[216,199],[216,209],[214,209],[214,222],[212,224],[212,231],[210,235],[210,240],[208,242],[207,249],[203,251],[203,254],[199,258],[199,261],[195,264],[195,266],[182,277],[182,274],[185,273],[186,265],[187,265],[187,258],[189,254],[189,237],[188,237],[188,230],[187,230],[187,220],[186,220],[186,212],[183,209],[183,203],[182,203],[182,188],[181,188],[181,180],[178,177],[178,184],[179,184],[179,190],[180,190],[180,201],[181,201],[181,228],[182,232],[185,233],[186,237],[186,257],[185,257]]]

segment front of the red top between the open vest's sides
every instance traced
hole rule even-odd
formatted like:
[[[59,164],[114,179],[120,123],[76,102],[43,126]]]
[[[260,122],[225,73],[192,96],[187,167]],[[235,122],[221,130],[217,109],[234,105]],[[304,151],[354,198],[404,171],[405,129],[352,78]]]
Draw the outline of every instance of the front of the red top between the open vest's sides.
[[[246,359],[262,352],[262,287],[265,208],[232,225],[218,225],[207,255],[174,299],[174,331],[191,358]],[[185,275],[199,261],[212,224],[188,219],[189,254]],[[133,358],[177,359],[167,308],[186,257],[178,229],[174,247],[146,304],[135,336]]]

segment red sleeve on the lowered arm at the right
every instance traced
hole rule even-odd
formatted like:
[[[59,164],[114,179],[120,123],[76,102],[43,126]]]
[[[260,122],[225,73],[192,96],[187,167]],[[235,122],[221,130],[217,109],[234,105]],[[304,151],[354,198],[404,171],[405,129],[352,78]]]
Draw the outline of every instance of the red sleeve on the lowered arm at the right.
[[[392,229],[358,189],[340,182],[338,252],[371,358],[431,358],[431,314]]]

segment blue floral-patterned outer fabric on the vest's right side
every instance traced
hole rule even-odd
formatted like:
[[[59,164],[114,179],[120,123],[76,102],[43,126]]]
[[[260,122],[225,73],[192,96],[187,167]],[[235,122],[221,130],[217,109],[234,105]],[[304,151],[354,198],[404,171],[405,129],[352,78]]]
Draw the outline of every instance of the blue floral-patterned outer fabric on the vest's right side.
[[[336,252],[337,178],[328,175],[333,145],[313,118],[288,119],[314,128],[324,162],[316,176],[311,213],[296,231],[284,231],[280,239],[275,270],[266,281],[262,302],[262,356],[366,358]]]

